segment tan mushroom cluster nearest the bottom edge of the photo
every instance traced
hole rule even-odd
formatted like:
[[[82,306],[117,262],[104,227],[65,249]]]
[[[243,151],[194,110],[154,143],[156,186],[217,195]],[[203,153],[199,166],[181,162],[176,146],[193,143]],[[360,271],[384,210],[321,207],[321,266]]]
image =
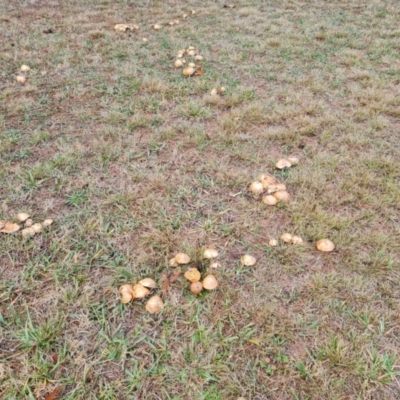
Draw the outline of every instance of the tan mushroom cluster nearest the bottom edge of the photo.
[[[121,303],[127,304],[132,300],[144,299],[156,287],[157,283],[152,278],[144,278],[134,285],[124,284],[119,288]],[[154,295],[147,301],[145,308],[150,314],[156,314],[164,308],[164,302],[160,296]]]

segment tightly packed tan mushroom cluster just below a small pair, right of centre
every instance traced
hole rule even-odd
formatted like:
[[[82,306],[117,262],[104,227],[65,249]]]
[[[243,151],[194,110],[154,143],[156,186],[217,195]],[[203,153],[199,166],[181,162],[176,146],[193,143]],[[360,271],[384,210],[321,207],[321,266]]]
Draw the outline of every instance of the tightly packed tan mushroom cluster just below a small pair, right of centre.
[[[250,184],[249,190],[256,196],[263,194],[262,201],[269,206],[275,206],[280,201],[285,203],[290,200],[286,185],[279,183],[275,177],[269,174],[261,174],[256,181]]]

